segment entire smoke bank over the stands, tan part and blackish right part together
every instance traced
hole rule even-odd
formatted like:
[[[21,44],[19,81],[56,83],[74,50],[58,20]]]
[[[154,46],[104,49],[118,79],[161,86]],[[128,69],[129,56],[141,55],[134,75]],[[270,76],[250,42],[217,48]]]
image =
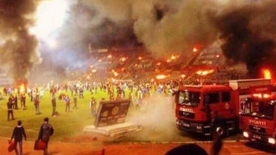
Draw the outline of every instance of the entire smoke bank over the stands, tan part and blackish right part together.
[[[82,16],[75,12],[78,33],[85,34],[78,36],[94,47],[131,40],[157,58],[175,52],[188,58],[194,45],[220,39],[228,62],[246,63],[252,75],[260,62],[274,58],[273,0],[80,0],[78,5],[86,8]]]

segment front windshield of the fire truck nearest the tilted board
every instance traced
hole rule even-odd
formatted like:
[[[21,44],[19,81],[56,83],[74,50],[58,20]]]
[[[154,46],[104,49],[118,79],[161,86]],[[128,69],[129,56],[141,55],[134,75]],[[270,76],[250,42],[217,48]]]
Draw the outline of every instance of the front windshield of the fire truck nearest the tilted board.
[[[200,93],[179,91],[178,104],[185,106],[199,106]]]

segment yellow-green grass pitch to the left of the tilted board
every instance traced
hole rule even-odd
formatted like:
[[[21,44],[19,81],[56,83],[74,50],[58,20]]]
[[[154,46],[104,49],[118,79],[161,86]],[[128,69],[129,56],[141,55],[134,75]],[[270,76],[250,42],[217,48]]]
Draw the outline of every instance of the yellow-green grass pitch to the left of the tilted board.
[[[62,91],[62,93],[66,92]],[[71,92],[67,91],[66,94],[71,95]],[[128,92],[126,94],[128,94]],[[77,99],[78,109],[72,110],[73,103],[71,103],[71,112],[67,113],[65,112],[65,102],[57,99],[56,111],[58,111],[61,115],[52,117],[50,92],[45,92],[44,99],[40,100],[40,115],[35,115],[34,102],[31,102],[29,96],[27,96],[27,108],[25,110],[21,110],[20,101],[18,101],[19,110],[13,110],[15,120],[7,121],[8,96],[5,96],[4,100],[0,101],[0,137],[11,137],[13,128],[17,125],[17,121],[21,120],[27,134],[27,140],[34,141],[38,137],[40,126],[45,117],[49,117],[49,122],[55,130],[54,135],[51,138],[52,140],[61,141],[65,137],[79,135],[82,133],[84,126],[93,125],[95,120],[95,117],[90,114],[89,109],[91,97],[96,99],[98,107],[100,99],[104,97],[108,100],[109,96],[107,95],[107,92],[104,91],[98,91],[97,94],[93,95],[91,95],[89,91],[85,91],[84,99]]]

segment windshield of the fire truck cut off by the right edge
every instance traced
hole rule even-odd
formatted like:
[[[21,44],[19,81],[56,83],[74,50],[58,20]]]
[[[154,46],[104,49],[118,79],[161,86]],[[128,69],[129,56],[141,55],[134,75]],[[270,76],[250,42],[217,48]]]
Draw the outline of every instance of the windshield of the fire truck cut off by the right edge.
[[[275,101],[252,101],[251,112],[247,115],[273,119]]]

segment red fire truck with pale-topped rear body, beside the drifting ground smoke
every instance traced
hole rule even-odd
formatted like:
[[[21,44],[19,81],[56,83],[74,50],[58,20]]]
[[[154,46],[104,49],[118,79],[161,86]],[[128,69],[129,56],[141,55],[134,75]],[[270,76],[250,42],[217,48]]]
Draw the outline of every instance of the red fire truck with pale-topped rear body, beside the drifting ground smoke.
[[[176,124],[179,130],[205,136],[223,136],[240,127],[240,114],[249,111],[247,98],[271,89],[271,80],[230,80],[229,85],[186,85],[176,92]]]

